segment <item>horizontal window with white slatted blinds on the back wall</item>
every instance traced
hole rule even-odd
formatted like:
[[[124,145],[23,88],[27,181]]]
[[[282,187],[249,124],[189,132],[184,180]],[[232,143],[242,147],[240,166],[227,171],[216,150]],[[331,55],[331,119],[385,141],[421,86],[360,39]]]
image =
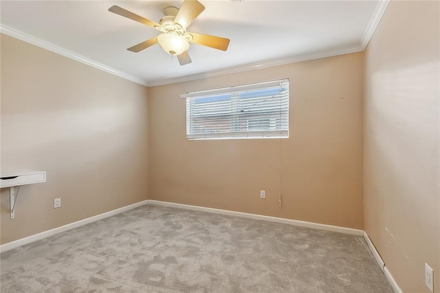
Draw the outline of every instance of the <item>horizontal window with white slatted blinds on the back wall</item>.
[[[288,138],[289,80],[198,91],[186,98],[186,138]]]

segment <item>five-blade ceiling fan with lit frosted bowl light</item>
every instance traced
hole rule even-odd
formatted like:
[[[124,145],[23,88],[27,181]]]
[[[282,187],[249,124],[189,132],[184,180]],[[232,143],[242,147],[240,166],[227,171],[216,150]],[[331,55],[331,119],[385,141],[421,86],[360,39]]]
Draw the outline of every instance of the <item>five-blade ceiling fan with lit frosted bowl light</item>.
[[[192,62],[188,54],[190,43],[212,47],[217,50],[228,50],[229,39],[221,38],[220,36],[210,36],[208,34],[197,34],[195,32],[186,31],[186,28],[188,28],[192,21],[194,21],[203,10],[205,10],[205,6],[199,1],[184,0],[180,9],[174,6],[165,8],[165,16],[159,20],[159,23],[155,23],[154,21],[140,17],[129,10],[125,10],[120,6],[113,5],[109,8],[109,12],[119,14],[128,19],[133,19],[133,21],[148,25],[160,32],[158,36],[143,41],[142,43],[138,43],[133,47],[129,47],[127,50],[137,53],[151,45],[155,45],[155,43],[159,43],[165,52],[177,56],[180,65],[186,65]]]

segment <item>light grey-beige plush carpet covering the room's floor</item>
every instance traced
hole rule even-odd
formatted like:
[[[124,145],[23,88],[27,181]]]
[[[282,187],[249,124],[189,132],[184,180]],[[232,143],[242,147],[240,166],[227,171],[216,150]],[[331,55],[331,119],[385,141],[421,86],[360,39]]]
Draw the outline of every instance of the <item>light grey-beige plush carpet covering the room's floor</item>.
[[[390,292],[362,237],[142,206],[1,254],[1,292]]]

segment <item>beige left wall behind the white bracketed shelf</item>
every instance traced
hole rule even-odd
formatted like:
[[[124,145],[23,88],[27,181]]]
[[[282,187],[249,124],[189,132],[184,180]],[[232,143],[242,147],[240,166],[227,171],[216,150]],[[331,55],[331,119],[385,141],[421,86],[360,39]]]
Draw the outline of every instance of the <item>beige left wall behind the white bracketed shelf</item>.
[[[1,243],[146,199],[147,94],[1,36],[1,172],[47,172],[46,183],[21,187],[13,220],[1,189]]]

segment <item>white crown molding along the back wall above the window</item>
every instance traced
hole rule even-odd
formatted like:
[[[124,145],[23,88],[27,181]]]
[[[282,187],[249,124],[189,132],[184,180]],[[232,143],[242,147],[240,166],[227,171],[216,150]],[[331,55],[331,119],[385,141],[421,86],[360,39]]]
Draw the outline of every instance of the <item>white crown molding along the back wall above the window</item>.
[[[248,64],[248,65],[229,67],[226,69],[219,69],[219,70],[214,70],[211,72],[203,72],[200,74],[192,74],[192,75],[181,76],[181,77],[176,77],[176,78],[166,78],[166,79],[161,79],[161,80],[153,80],[153,81],[148,82],[148,87],[156,87],[159,85],[169,85],[171,83],[182,83],[182,82],[190,81],[190,80],[197,80],[197,79],[201,79],[201,78],[210,78],[210,77],[214,77],[214,76],[222,76],[222,75],[234,74],[234,73],[238,73],[238,72],[248,72],[250,70],[255,70],[255,69],[263,69],[263,68],[267,68],[267,67],[287,65],[287,64],[291,64],[291,63],[298,63],[298,62],[309,61],[309,60],[314,60],[314,59],[319,59],[319,58],[338,56],[338,55],[343,55],[343,54],[350,54],[350,53],[355,53],[355,52],[361,52],[363,50],[364,49],[362,49],[362,46],[354,45],[351,47],[344,47],[344,48],[341,48],[338,50],[332,50],[332,51],[327,51],[327,52],[318,52],[318,53],[314,53],[314,54],[304,54],[304,55],[298,55],[298,56],[293,56],[293,57],[289,57],[289,58],[275,59],[275,60],[263,61],[263,62],[259,62],[259,63],[252,63],[252,64]]]

